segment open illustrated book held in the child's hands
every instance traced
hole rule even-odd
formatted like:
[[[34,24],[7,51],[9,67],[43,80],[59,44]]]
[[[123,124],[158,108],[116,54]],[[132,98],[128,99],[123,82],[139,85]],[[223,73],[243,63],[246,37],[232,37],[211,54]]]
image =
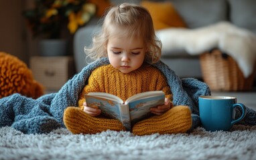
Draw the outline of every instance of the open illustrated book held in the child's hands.
[[[163,91],[147,91],[129,97],[125,102],[115,95],[103,92],[90,92],[85,95],[88,107],[99,107],[101,113],[113,119],[119,119],[128,131],[131,127],[151,116],[151,107],[163,105]]]

